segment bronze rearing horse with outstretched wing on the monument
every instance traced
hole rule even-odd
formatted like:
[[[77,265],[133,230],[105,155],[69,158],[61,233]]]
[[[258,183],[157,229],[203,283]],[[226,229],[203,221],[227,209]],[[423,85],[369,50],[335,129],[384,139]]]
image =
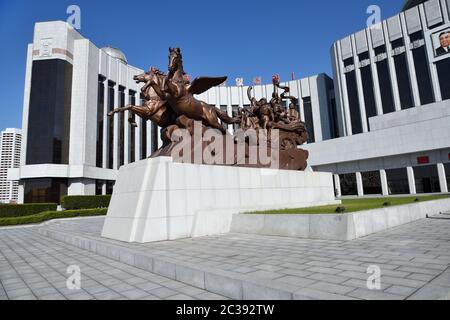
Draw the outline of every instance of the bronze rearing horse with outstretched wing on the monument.
[[[212,87],[223,83],[227,77],[208,78],[199,77],[191,84],[184,78],[183,59],[179,48],[169,49],[169,74],[165,87],[151,82],[155,92],[161,99],[166,100],[179,116],[202,121],[206,126],[213,127],[226,134],[227,130],[220,124],[219,119],[226,124],[237,123],[239,120],[229,117],[225,112],[194,98],[194,94],[201,94]]]

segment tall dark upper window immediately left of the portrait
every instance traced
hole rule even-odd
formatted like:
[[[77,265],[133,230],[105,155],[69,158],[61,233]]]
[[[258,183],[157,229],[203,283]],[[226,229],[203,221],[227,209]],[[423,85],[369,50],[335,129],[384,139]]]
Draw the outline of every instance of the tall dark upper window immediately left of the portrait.
[[[419,31],[410,35],[411,42],[423,40],[423,32]],[[433,87],[431,85],[428,55],[425,46],[420,46],[412,50],[414,67],[416,69],[417,85],[419,87],[420,104],[435,102]]]

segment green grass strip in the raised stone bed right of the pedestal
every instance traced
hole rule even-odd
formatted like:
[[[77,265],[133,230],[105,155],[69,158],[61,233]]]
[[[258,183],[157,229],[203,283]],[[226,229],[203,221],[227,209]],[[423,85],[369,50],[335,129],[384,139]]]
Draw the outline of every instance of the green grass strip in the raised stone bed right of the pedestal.
[[[404,204],[416,203],[419,201],[431,201],[449,198],[450,195],[433,195],[433,196],[412,196],[412,197],[385,197],[385,198],[370,198],[370,199],[344,199],[341,205],[309,207],[301,209],[283,209],[283,210],[269,210],[249,212],[249,214],[330,214],[336,213],[337,207],[345,207],[343,213],[357,212],[370,209],[378,209],[389,206],[399,206]]]

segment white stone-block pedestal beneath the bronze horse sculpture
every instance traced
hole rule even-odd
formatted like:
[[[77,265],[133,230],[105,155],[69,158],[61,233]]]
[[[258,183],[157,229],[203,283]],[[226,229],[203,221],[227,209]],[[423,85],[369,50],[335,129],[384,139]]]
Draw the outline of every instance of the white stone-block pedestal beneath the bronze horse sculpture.
[[[230,231],[233,214],[335,203],[330,173],[159,157],[121,167],[102,236],[145,243],[216,235]]]

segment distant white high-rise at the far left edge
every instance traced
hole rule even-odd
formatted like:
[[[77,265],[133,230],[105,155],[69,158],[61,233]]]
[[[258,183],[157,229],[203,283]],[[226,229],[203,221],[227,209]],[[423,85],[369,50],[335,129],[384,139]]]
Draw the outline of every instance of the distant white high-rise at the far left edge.
[[[19,182],[7,180],[8,169],[19,168],[22,132],[7,128],[0,133],[0,202],[17,203]]]

